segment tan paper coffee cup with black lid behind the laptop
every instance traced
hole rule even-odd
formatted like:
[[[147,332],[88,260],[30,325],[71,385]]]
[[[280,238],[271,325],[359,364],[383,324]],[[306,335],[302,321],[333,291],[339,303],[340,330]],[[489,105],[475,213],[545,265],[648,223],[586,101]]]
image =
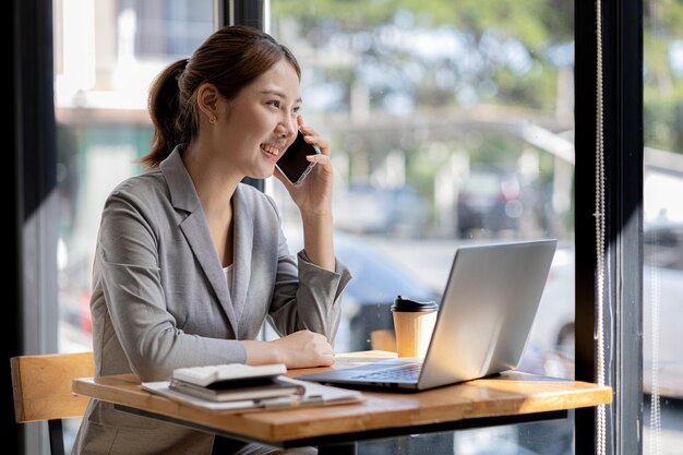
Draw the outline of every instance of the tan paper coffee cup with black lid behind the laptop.
[[[392,313],[398,357],[423,358],[427,355],[438,310],[434,301],[420,302],[400,296],[394,299]]]

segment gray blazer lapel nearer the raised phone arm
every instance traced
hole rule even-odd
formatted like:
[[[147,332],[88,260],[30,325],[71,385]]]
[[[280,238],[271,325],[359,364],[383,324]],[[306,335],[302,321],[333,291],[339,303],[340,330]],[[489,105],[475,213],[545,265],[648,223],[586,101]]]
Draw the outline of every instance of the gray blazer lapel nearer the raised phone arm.
[[[232,196],[232,208],[235,234],[232,250],[233,268],[230,290],[232,295],[232,308],[239,321],[247,301],[253,247],[253,219],[240,185],[237,187],[235,195]]]

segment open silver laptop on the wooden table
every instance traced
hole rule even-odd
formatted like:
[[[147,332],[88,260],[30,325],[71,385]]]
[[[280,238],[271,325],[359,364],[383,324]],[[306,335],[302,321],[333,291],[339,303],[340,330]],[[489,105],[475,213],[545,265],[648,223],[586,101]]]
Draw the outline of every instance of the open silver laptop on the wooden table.
[[[556,246],[542,239],[459,247],[423,360],[387,359],[297,379],[422,391],[515,369]]]

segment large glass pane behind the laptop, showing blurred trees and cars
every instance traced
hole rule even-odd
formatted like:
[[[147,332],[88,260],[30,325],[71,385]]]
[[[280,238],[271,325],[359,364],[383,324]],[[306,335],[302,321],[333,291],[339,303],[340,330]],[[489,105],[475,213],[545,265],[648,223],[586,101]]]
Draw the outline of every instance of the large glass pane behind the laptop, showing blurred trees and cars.
[[[271,3],[302,65],[304,121],[332,145],[336,253],[355,276],[335,349],[391,333],[398,295],[439,301],[458,246],[555,237],[519,368],[573,376],[573,3]],[[298,251],[296,207],[275,179],[266,190]],[[565,421],[420,436],[409,453],[430,438],[457,453],[503,453],[501,439],[504,453],[573,452]]]

